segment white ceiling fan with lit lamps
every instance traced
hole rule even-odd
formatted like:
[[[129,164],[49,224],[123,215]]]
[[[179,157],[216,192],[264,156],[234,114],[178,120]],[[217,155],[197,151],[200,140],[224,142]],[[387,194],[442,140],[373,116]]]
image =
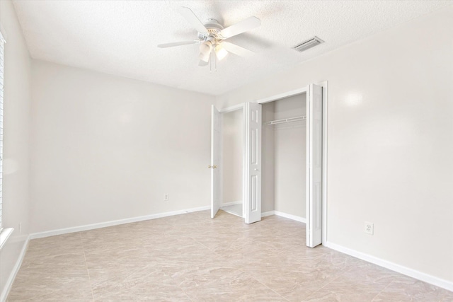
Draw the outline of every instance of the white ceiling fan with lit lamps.
[[[215,61],[215,57],[221,60],[226,57],[229,52],[237,54],[241,57],[246,57],[253,54],[251,50],[246,50],[243,47],[235,45],[225,40],[229,37],[239,35],[258,28],[261,25],[260,19],[252,16],[244,19],[243,21],[224,28],[215,19],[208,19],[202,23],[200,19],[195,16],[192,10],[188,7],[180,7],[179,13],[197,30],[198,40],[189,40],[182,42],[173,42],[157,45],[160,48],[175,47],[180,45],[200,44],[200,66],[207,66],[210,62]],[[215,56],[215,57],[214,57]]]

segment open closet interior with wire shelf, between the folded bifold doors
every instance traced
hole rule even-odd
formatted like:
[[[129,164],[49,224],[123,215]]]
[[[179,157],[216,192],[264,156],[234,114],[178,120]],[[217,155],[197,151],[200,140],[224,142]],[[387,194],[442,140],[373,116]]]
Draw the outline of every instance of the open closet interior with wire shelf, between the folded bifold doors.
[[[306,221],[306,93],[262,105],[263,212]]]

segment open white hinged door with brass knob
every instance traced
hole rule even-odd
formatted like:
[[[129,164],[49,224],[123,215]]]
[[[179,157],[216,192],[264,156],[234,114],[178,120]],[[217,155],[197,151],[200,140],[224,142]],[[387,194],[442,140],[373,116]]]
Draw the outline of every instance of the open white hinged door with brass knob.
[[[212,105],[212,122],[211,122],[211,218],[217,214],[222,204],[220,197],[220,173],[219,163],[221,159],[220,141],[221,135],[221,120],[220,113],[214,105]]]

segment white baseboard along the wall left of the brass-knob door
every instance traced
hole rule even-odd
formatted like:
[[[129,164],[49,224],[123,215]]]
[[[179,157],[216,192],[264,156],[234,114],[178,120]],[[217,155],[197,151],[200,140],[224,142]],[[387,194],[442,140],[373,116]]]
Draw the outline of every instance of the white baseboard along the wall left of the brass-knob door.
[[[85,226],[74,226],[72,228],[60,228],[58,230],[30,234],[30,239],[38,239],[38,238],[45,238],[45,237],[62,235],[62,234],[67,234],[67,233],[88,231],[88,230],[93,230],[95,228],[105,228],[107,226],[117,226],[119,224],[151,220],[151,219],[158,219],[158,218],[162,218],[162,217],[192,213],[194,211],[205,211],[205,210],[209,210],[209,209],[211,209],[211,206],[197,207],[197,208],[193,208],[193,209],[185,209],[185,210],[179,210],[179,211],[169,211],[169,212],[165,212],[165,213],[151,214],[151,215],[146,215],[146,216],[132,217],[132,218],[127,218],[127,219],[113,220],[113,221],[105,221],[105,222],[101,222],[101,223],[87,224]]]

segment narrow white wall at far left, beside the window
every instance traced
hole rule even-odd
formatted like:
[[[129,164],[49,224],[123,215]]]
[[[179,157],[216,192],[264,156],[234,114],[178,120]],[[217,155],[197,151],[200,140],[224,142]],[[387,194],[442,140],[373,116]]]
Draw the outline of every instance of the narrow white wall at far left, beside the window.
[[[30,64],[11,1],[0,1],[4,49],[3,226],[15,228],[0,252],[0,292],[13,272],[30,230]],[[21,232],[19,232],[21,223]]]

